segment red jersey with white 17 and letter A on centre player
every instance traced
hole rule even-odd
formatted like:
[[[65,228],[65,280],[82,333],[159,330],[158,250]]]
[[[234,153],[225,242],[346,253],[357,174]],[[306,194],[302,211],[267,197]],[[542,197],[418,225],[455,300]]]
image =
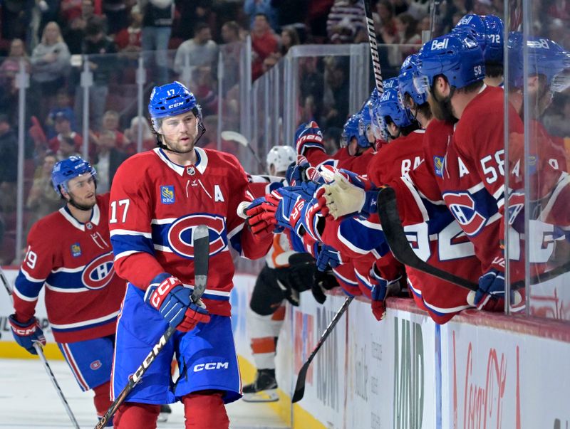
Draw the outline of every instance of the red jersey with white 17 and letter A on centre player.
[[[229,245],[247,258],[261,258],[271,236],[254,237],[237,216],[252,201],[239,161],[224,152],[195,148],[195,165],[173,163],[159,148],[130,157],[113,179],[110,236],[115,270],[141,290],[161,272],[194,285],[192,233],[209,229],[209,272],[202,297],[212,314],[229,316],[234,263]]]

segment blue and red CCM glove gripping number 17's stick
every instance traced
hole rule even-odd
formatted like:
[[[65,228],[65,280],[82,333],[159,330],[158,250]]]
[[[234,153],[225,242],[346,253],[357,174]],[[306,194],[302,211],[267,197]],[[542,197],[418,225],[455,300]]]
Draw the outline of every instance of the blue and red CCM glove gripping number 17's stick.
[[[176,277],[162,272],[157,275],[145,292],[145,302],[180,332],[188,332],[199,323],[208,323],[209,314],[201,300],[192,302],[192,290],[182,285]]]

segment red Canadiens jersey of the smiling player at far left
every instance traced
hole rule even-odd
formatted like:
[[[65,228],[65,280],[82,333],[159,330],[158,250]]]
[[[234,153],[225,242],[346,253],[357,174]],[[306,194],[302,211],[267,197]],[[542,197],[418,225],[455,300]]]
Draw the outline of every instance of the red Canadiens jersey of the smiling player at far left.
[[[109,194],[97,197],[87,223],[67,209],[37,221],[28,234],[26,258],[14,287],[18,319],[33,316],[41,288],[58,342],[105,337],[115,332],[125,280],[113,269],[108,227]]]

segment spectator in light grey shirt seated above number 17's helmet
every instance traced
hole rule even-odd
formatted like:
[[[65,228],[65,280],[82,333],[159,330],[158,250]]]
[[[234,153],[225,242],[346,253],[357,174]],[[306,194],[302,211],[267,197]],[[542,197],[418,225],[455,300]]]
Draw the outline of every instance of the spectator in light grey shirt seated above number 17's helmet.
[[[182,83],[188,84],[192,70],[202,65],[212,67],[217,61],[218,46],[212,41],[212,32],[205,22],[196,24],[194,37],[185,41],[176,51],[174,71],[183,75]],[[192,83],[189,83],[193,87]]]

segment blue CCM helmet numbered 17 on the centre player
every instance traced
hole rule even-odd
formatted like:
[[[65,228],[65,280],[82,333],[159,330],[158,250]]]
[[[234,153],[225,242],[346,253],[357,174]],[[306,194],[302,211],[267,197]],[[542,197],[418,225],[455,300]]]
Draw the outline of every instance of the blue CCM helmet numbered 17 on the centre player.
[[[190,112],[191,110],[197,117],[201,116],[196,97],[182,83],[174,81],[166,85],[155,86],[152,89],[148,103],[148,112],[155,131],[158,131],[160,127],[160,123],[157,120],[182,115],[182,113]]]

